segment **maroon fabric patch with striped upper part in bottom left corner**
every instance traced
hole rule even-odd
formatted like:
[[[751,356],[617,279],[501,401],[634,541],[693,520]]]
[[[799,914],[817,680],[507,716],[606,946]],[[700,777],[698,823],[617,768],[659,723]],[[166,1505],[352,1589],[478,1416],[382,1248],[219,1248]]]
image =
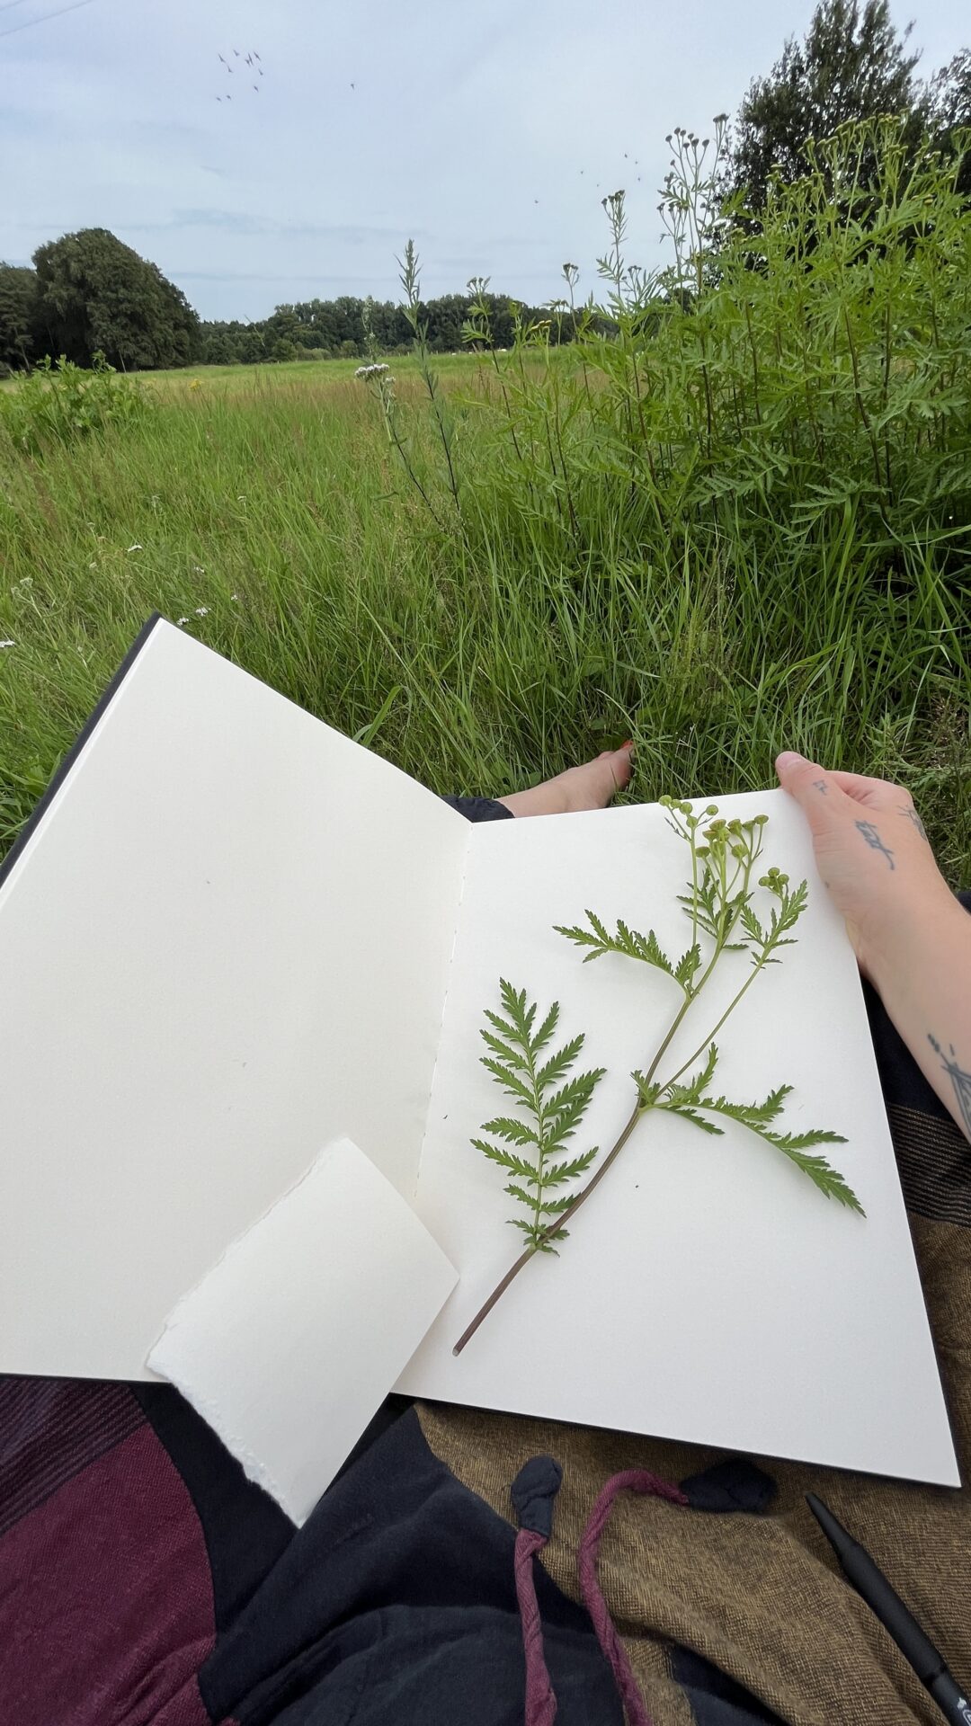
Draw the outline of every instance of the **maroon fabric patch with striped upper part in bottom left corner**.
[[[209,1726],[197,1671],[214,1643],[213,1586],[180,1474],[123,1386],[19,1386],[21,1398],[16,1381],[3,1386],[14,1407],[0,1510],[10,1521],[14,1505],[33,1498],[35,1509],[0,1540],[3,1719]],[[59,1395],[73,1422],[52,1420]],[[131,1408],[135,1431],[107,1448]],[[31,1429],[45,1434],[33,1481]]]

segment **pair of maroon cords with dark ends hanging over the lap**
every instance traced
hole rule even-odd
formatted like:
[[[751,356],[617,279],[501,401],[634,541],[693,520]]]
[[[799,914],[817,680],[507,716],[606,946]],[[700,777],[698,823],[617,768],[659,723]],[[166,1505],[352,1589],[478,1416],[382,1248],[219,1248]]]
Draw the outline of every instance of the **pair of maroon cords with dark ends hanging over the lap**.
[[[553,1695],[543,1652],[543,1622],[539,1619],[532,1560],[543,1552],[553,1531],[553,1500],[560,1491],[562,1479],[563,1471],[558,1462],[553,1462],[553,1457],[534,1457],[517,1474],[511,1491],[520,1524],[513,1567],[525,1652],[525,1726],[553,1726],[556,1719],[556,1697]],[[613,1683],[620,1691],[624,1716],[629,1726],[651,1726],[624,1643],[613,1628],[606,1600],[596,1579],[600,1540],[617,1493],[648,1493],[651,1498],[667,1498],[674,1505],[686,1505],[689,1500],[679,1486],[670,1486],[667,1481],[658,1479],[657,1474],[648,1474],[646,1469],[624,1469],[622,1474],[613,1474],[600,1493],[577,1550],[581,1593],[593,1619],[596,1640],[603,1648],[605,1659],[610,1662]]]

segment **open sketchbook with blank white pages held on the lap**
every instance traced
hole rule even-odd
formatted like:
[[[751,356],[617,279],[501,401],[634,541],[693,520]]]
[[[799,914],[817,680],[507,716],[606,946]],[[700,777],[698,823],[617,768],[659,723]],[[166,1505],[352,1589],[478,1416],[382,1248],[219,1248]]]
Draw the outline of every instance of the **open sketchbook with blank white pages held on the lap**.
[[[798,944],[726,1027],[719,1084],[790,1082],[784,1124],[847,1137],[833,1162],[866,1220],[741,1125],[650,1117],[562,1257],[534,1258],[456,1358],[520,1248],[503,1174],[470,1146],[498,1112],[482,1008],[499,975],[560,1001],[584,1065],[608,1068],[584,1143],[610,1144],[670,984],[582,965],[551,925],[593,904],[681,951],[686,849],[657,806],[470,825],[149,625],[0,877],[0,1370],[152,1377],[183,1296],[244,1263],[230,1243],[283,1194],[295,1217],[318,1153],[349,1139],[423,1227],[396,1258],[382,1229],[408,1231],[354,1165],[337,1186],[316,1170],[306,1193],[337,1229],[356,1219],[359,1251],[314,1260],[304,1206],[292,1262],[280,1236],[223,1301],[249,1334],[273,1296],[290,1329],[270,1357],[292,1377],[351,1403],[366,1381],[373,1407],[399,1372],[418,1396],[957,1483],[841,920],[783,792],[719,804],[765,811],[769,861],[810,882]],[[719,987],[727,1005],[729,960]]]

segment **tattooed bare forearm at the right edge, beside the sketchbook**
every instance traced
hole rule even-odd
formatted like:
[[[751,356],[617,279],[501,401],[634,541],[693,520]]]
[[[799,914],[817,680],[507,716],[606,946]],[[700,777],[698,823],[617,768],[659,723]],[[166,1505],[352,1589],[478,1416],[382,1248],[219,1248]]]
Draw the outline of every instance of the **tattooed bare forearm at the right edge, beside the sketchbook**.
[[[871,977],[921,1072],[971,1139],[971,915],[942,894],[933,910],[900,918]]]

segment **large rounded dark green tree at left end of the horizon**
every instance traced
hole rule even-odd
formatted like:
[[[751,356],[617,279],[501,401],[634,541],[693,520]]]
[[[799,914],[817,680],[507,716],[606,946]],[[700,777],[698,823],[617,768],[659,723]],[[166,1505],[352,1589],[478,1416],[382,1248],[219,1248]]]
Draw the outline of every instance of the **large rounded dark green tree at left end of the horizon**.
[[[90,366],[188,366],[200,352],[192,306],[157,264],[107,228],[83,228],[35,252],[40,349]]]

